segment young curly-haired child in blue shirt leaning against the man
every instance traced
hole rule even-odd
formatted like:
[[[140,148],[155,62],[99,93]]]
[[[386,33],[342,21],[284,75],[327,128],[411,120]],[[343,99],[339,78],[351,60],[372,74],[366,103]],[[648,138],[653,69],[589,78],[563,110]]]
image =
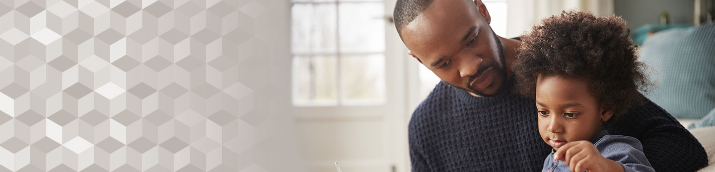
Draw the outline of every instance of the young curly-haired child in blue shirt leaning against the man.
[[[603,123],[652,86],[618,16],[564,11],[522,37],[516,89],[536,98],[541,138],[553,147],[542,171],[654,171],[641,142],[609,135]]]

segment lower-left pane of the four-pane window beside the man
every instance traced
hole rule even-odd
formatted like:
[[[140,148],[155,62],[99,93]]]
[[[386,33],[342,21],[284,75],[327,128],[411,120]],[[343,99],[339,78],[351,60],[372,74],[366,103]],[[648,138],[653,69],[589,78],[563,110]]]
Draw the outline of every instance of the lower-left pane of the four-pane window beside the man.
[[[293,104],[337,104],[335,56],[293,56]]]

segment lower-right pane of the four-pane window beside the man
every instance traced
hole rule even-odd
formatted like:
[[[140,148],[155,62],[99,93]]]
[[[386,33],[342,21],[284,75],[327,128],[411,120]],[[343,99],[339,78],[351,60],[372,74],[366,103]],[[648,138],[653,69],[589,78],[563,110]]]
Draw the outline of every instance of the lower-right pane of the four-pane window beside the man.
[[[385,103],[385,55],[341,56],[343,103]]]

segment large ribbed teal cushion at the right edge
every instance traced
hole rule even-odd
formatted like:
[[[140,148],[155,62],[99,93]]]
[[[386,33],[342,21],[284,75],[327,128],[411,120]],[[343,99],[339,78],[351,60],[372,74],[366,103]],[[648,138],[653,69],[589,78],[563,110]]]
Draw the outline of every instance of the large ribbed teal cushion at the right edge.
[[[715,24],[659,31],[641,47],[658,85],[646,95],[676,118],[703,118],[715,108]]]

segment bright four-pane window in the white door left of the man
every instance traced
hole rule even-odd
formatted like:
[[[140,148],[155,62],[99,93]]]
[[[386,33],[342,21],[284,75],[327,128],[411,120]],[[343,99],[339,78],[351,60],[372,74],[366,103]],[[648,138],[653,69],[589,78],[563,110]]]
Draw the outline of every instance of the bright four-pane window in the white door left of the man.
[[[293,0],[295,106],[385,103],[385,7],[375,0]]]

